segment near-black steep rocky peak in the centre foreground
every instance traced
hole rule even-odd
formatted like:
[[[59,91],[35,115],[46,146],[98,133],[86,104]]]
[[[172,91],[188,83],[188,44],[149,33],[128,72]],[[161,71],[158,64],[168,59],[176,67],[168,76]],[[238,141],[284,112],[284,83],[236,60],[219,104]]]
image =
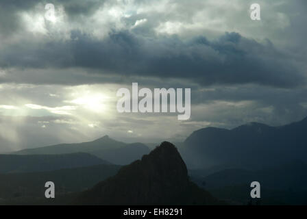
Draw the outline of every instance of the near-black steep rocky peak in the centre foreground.
[[[117,175],[83,192],[75,201],[81,205],[216,203],[208,192],[188,180],[186,164],[169,142],[163,142],[141,160],[124,166]]]

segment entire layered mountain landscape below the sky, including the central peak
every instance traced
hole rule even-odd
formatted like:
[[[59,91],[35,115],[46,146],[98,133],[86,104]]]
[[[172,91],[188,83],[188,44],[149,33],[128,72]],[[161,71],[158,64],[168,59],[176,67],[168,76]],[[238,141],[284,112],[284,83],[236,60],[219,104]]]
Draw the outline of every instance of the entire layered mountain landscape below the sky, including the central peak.
[[[221,203],[213,194],[245,205],[251,181],[259,181],[263,204],[306,204],[306,129],[304,118],[280,127],[207,127],[177,148],[163,142],[153,151],[104,136],[0,155],[0,203]],[[53,202],[41,198],[43,181],[51,179],[60,184]]]

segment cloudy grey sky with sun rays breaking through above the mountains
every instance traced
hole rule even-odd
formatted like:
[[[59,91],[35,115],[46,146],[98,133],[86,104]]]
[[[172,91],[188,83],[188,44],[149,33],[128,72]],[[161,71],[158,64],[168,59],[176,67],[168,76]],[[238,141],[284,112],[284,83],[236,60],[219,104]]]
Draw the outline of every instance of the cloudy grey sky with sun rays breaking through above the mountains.
[[[301,120],[306,14],[304,0],[1,0],[0,153]],[[191,88],[191,118],[117,112],[116,91],[133,82]]]

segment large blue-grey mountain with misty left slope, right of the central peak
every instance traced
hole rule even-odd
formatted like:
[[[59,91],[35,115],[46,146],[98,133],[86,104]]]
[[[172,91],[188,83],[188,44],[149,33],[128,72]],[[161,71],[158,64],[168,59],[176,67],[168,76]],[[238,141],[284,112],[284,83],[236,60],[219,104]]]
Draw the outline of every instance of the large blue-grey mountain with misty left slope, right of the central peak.
[[[191,168],[216,165],[273,166],[307,161],[307,118],[282,127],[249,123],[234,129],[208,127],[194,131],[184,142],[184,159]]]

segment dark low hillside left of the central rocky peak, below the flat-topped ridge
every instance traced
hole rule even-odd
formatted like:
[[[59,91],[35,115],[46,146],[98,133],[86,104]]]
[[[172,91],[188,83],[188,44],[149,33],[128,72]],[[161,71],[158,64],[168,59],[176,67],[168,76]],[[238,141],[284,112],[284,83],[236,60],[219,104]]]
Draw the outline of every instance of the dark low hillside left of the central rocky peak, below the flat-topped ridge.
[[[30,204],[37,199],[44,201],[47,181],[56,184],[57,198],[62,194],[81,192],[115,175],[120,167],[101,164],[46,172],[0,174],[0,200],[5,204],[21,205]]]

